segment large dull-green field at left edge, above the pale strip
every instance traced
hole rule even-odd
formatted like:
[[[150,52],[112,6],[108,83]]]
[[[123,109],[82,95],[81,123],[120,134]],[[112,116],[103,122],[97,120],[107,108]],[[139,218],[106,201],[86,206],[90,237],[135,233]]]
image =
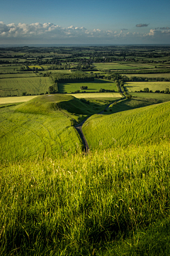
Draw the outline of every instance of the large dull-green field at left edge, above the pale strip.
[[[52,85],[48,77],[0,79],[0,96],[21,96],[23,92],[38,95],[48,91]]]

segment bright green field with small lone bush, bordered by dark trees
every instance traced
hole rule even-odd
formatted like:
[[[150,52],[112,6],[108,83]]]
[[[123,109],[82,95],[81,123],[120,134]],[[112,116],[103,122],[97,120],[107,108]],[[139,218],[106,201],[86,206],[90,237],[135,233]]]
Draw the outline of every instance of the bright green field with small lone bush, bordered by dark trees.
[[[87,86],[88,89],[81,90],[81,86]],[[91,82],[58,83],[58,91],[60,93],[73,93],[77,90],[80,92],[98,92],[101,88],[105,90],[115,90],[115,92],[118,92],[118,88],[116,87],[115,83],[108,80],[95,79]]]

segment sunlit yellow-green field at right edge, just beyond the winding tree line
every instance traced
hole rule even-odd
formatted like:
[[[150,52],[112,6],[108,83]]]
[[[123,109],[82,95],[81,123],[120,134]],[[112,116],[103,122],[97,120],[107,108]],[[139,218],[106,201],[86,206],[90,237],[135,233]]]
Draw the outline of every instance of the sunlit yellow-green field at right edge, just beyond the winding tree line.
[[[169,88],[170,90],[170,82],[126,82],[125,83],[125,89],[128,90],[128,92],[135,92],[144,90],[144,88],[149,88],[149,90],[152,90],[155,92],[156,90],[166,90],[166,88]]]

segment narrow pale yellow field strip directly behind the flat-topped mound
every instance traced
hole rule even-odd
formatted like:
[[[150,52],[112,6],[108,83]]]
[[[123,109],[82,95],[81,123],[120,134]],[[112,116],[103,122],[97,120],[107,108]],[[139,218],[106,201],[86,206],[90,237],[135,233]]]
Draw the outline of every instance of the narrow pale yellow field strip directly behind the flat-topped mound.
[[[71,94],[74,97],[77,97],[78,99],[81,98],[111,98],[111,97],[122,97],[120,93],[118,92],[98,92],[98,93],[73,93]]]

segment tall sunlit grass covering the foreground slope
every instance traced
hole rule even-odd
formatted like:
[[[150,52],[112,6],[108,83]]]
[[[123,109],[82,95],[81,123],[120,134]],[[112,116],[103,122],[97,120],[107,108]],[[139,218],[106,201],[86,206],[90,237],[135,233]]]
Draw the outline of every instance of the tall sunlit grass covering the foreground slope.
[[[159,228],[169,216],[169,149],[162,142],[4,161],[0,255],[169,255],[169,234]]]

